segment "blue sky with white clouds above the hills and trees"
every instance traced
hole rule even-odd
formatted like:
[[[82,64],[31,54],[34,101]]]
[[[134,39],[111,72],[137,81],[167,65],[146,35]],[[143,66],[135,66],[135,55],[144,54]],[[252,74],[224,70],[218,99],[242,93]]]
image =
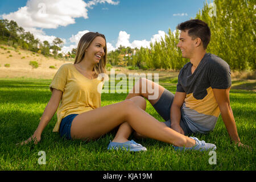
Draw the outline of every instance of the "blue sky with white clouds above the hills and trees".
[[[209,2],[209,1],[208,1]],[[112,49],[154,42],[178,23],[195,18],[205,0],[0,0],[1,18],[13,19],[40,40],[76,47],[86,31],[106,36]],[[46,16],[38,18],[38,11]],[[79,34],[80,31],[80,34]]]

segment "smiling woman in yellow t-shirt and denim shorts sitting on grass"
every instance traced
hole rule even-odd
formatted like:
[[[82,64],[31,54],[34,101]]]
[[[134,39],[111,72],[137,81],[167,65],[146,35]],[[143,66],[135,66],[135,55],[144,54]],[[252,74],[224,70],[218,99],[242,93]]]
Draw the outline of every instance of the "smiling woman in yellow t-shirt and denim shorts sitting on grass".
[[[62,65],[53,77],[49,86],[52,96],[38,128],[32,137],[22,144],[31,140],[38,143],[44,128],[59,107],[53,131],[59,131],[61,137],[67,139],[97,139],[120,125],[108,149],[146,150],[134,140],[127,140],[133,129],[146,137],[171,143],[176,146],[175,149],[216,149],[214,144],[205,144],[197,138],[184,136],[157,121],[144,111],[146,101],[141,96],[101,107],[98,85],[102,86],[104,79],[98,79],[98,76],[106,72],[106,54],[104,35],[88,32],[82,36],[77,47],[75,63]]]

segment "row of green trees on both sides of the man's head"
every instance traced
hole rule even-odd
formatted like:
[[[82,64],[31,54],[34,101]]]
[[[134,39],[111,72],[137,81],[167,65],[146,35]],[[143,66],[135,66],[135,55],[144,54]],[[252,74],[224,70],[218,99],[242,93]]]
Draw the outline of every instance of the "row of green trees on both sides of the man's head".
[[[249,0],[215,0],[204,4],[196,14],[196,19],[208,23],[211,40],[207,52],[225,60],[233,70],[256,69],[255,64],[255,3]],[[150,48],[140,48],[135,55],[120,56],[126,53],[125,48],[109,54],[110,63],[131,65],[142,69],[175,69],[179,70],[189,60],[181,57],[177,48],[179,32],[175,34],[169,29],[165,39],[151,43]],[[130,52],[133,52],[131,50]],[[119,53],[119,54],[118,54]],[[113,59],[115,57],[115,59]]]

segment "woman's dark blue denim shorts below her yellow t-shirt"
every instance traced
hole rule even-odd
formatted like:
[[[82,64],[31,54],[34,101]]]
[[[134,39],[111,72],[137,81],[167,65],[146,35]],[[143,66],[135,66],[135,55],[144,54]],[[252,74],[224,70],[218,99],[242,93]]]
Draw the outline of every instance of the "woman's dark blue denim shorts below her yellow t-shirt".
[[[60,123],[60,137],[65,137],[66,139],[71,139],[71,124],[73,122],[73,119],[77,116],[78,114],[70,114],[63,118]]]

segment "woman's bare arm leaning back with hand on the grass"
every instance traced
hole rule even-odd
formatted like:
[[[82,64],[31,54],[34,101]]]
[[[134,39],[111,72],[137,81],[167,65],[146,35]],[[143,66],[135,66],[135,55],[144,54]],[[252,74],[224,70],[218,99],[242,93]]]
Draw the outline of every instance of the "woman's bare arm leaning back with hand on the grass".
[[[23,141],[20,144],[27,144],[28,142],[31,142],[31,140],[34,140],[34,143],[36,144],[41,140],[41,134],[44,128],[48,125],[49,121],[51,120],[53,115],[56,113],[57,108],[59,107],[62,94],[63,92],[60,90],[52,90],[52,96],[46,106],[46,109],[44,109],[44,113],[41,117],[38,128],[35,130],[32,137],[28,138],[27,140]]]

